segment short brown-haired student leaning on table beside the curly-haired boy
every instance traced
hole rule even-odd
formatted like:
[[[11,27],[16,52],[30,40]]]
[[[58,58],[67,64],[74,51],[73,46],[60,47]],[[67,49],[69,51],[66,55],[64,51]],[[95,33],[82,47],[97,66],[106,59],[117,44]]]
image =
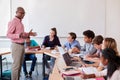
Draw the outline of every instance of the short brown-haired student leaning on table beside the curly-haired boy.
[[[93,44],[94,47],[97,49],[97,52],[93,55],[87,55],[85,57],[86,60],[99,62],[102,51],[102,41],[103,41],[103,37],[101,35],[98,35],[93,39]]]

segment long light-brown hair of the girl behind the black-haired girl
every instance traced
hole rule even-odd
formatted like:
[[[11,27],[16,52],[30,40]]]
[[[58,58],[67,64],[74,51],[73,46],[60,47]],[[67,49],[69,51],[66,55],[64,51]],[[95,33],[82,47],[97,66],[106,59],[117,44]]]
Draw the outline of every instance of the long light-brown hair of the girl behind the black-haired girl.
[[[118,50],[117,50],[117,43],[115,39],[107,37],[104,39],[104,46],[105,48],[111,48],[116,52],[116,55],[118,55]]]

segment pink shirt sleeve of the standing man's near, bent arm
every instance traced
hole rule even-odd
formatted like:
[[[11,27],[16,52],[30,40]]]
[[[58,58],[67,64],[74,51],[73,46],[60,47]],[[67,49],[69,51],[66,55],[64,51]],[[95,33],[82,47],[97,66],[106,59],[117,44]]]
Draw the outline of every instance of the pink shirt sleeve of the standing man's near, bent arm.
[[[20,34],[15,34],[16,22],[12,21],[8,24],[7,37],[10,39],[19,39]]]

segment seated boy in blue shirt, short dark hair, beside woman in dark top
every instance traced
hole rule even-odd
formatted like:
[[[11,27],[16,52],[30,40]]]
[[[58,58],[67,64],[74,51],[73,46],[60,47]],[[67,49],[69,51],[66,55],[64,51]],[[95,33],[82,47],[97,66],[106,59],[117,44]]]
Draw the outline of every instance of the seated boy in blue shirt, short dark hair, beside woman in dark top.
[[[66,48],[69,53],[79,53],[80,43],[76,40],[76,34],[74,32],[68,33],[67,41],[63,48]]]

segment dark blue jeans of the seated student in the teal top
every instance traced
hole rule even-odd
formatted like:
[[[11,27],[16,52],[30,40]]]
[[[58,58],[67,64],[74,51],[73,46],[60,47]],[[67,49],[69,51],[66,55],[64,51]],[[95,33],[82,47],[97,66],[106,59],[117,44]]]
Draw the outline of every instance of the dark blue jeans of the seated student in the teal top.
[[[30,61],[30,60],[32,60],[32,64],[31,64],[31,68],[30,68],[30,72],[31,72],[31,71],[34,71],[36,60],[37,60],[37,57],[35,56],[35,54],[25,54],[24,55],[23,71],[25,73],[27,73],[26,61]]]

